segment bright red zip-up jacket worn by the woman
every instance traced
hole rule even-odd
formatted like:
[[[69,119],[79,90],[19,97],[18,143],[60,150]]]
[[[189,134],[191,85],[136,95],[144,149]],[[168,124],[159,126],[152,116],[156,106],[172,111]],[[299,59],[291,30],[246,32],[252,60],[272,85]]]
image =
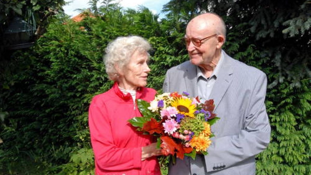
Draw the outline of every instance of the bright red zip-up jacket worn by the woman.
[[[136,98],[150,102],[156,91],[141,87]],[[134,109],[135,106],[135,109]],[[151,144],[152,137],[136,131],[128,120],[142,116],[132,96],[124,95],[118,84],[92,99],[89,108],[91,143],[97,175],[160,175],[156,157],[141,161],[142,147]]]

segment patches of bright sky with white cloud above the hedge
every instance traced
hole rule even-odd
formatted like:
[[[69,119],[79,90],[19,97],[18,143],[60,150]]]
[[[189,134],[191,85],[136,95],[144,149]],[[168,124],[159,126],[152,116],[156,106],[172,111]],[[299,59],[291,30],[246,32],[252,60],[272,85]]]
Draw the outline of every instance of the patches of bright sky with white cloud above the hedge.
[[[147,7],[154,14],[160,14],[159,18],[164,18],[164,14],[161,13],[162,7],[164,4],[168,3],[169,0],[119,0],[123,8],[133,8],[138,9],[139,5]],[[79,14],[79,11],[75,9],[89,8],[89,0],[66,0],[70,2],[68,5],[64,6],[63,9],[65,13],[71,17]],[[101,4],[97,6],[100,7]]]

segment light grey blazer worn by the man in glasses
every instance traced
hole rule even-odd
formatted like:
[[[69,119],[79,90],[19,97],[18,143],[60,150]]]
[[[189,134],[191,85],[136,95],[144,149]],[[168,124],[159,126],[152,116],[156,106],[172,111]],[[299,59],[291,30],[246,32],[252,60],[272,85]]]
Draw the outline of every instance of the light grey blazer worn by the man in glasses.
[[[224,62],[211,91],[215,113],[220,120],[212,125],[215,137],[207,156],[196,161],[185,157],[169,166],[170,175],[255,174],[255,155],[269,141],[271,128],[264,104],[267,77],[262,71],[232,59],[224,51]],[[186,91],[197,96],[196,66],[186,61],[169,69],[164,92]],[[201,161],[201,163],[200,163]]]

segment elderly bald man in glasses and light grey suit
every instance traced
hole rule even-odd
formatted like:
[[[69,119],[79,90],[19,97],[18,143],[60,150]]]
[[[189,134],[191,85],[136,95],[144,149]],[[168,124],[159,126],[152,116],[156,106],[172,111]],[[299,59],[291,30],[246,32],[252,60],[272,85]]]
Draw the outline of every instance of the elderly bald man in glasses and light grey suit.
[[[193,18],[185,35],[190,61],[166,73],[164,92],[186,91],[202,100],[214,99],[214,112],[220,117],[211,127],[215,137],[208,155],[176,160],[169,166],[170,175],[255,174],[255,155],[270,141],[264,104],[267,77],[221,49],[225,33],[224,21],[214,13]]]

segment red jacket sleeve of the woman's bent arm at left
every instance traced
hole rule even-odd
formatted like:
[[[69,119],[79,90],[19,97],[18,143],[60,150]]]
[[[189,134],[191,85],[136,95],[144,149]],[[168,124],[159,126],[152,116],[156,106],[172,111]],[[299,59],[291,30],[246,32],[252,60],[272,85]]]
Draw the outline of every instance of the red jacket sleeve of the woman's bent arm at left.
[[[141,168],[142,148],[118,148],[104,103],[92,100],[89,108],[89,127],[95,162],[100,169],[122,171]]]

